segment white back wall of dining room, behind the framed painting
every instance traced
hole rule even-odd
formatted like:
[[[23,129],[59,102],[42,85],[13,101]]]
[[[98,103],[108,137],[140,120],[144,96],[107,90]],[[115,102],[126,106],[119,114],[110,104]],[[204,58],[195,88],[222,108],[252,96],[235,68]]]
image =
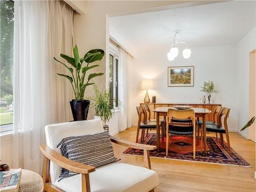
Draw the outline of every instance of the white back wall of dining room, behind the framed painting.
[[[231,108],[229,117],[230,131],[237,129],[237,57],[236,46],[191,48],[191,56],[184,59],[182,52],[174,61],[168,61],[168,47],[143,50],[137,53],[132,66],[132,123],[137,124],[135,107],[143,102],[145,90],[140,89],[143,78],[155,81],[155,90],[149,90],[150,97],[156,95],[157,102],[193,102],[199,103],[203,95],[203,81],[213,80],[219,93],[213,94],[212,103],[221,103]],[[194,87],[167,87],[167,67],[195,66]]]

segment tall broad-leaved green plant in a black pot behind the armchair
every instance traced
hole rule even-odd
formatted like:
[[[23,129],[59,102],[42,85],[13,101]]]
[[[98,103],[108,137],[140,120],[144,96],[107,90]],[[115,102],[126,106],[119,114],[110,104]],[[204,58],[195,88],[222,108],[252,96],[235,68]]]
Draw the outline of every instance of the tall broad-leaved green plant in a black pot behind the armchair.
[[[104,56],[104,51],[101,49],[93,49],[88,51],[84,57],[80,58],[78,48],[75,45],[73,54],[74,58],[62,53],[60,54],[62,58],[67,60],[70,66],[67,66],[55,57],[54,60],[65,66],[71,74],[71,76],[69,76],[57,73],[59,76],[66,77],[71,82],[75,98],[70,101],[70,106],[74,121],[79,121],[87,119],[90,105],[90,100],[84,99],[84,91],[88,86],[94,84],[94,82],[91,82],[94,77],[103,75],[103,73],[91,73],[88,75],[88,78],[86,78],[86,74],[90,69],[99,67],[99,65],[90,66],[90,63],[101,60]],[[84,65],[84,63],[86,64]]]

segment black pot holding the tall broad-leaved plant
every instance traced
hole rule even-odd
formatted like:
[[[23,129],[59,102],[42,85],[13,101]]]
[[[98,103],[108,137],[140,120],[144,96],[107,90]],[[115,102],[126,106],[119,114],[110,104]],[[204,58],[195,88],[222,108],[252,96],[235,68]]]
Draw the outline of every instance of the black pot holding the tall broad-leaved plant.
[[[70,101],[70,106],[74,121],[87,120],[90,100],[75,100]]]

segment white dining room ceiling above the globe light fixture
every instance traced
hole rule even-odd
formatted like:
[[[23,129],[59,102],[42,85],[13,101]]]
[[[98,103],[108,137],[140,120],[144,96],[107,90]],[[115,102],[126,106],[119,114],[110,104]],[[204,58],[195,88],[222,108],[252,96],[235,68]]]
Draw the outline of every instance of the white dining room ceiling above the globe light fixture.
[[[255,27],[255,7],[255,1],[224,2],[111,17],[110,25],[137,49],[171,46],[176,29],[189,47],[236,45]]]

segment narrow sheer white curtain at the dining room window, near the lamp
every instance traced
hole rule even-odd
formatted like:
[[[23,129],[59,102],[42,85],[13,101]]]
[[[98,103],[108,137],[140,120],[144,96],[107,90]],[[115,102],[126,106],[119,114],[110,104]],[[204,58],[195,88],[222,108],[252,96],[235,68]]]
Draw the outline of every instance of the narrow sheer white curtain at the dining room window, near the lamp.
[[[131,117],[131,79],[132,56],[119,47],[118,98],[123,104],[118,117],[118,130],[124,131],[132,125]]]

